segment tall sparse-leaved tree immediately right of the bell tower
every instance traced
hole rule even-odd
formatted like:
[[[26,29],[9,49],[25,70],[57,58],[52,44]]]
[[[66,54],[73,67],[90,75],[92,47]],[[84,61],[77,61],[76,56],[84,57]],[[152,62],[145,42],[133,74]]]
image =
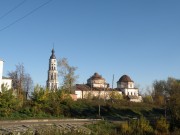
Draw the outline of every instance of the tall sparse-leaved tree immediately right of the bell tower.
[[[70,66],[66,58],[58,60],[58,67],[60,76],[63,78],[63,88],[71,91],[78,78],[78,76],[75,75],[77,67]]]

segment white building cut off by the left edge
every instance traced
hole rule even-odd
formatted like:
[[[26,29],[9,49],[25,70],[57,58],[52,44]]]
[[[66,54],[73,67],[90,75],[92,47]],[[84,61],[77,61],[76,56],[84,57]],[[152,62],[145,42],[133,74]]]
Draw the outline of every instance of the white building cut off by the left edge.
[[[7,89],[12,88],[12,79],[3,77],[3,64],[4,62],[0,60],[0,92],[2,92],[1,87],[4,85]]]

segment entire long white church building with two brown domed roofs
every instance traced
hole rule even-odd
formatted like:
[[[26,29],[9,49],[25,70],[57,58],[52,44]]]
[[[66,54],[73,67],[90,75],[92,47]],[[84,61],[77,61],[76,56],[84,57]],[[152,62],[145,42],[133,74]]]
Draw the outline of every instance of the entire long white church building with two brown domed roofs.
[[[87,80],[87,84],[76,84],[75,94],[78,99],[93,97],[111,99],[112,95],[115,94],[116,96],[114,97],[124,96],[127,97],[129,101],[142,102],[138,88],[135,88],[134,81],[132,81],[128,75],[123,75],[117,82],[117,88],[111,89],[101,75],[94,73],[94,75]]]

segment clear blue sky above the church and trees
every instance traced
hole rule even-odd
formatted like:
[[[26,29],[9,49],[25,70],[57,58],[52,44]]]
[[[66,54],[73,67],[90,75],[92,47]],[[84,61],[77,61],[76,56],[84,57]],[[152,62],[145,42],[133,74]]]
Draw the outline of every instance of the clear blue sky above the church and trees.
[[[127,74],[142,90],[180,79],[179,7],[179,0],[1,0],[4,76],[23,63],[45,86],[54,44],[56,58],[78,68],[77,83],[95,72],[110,85],[114,75],[114,87]]]

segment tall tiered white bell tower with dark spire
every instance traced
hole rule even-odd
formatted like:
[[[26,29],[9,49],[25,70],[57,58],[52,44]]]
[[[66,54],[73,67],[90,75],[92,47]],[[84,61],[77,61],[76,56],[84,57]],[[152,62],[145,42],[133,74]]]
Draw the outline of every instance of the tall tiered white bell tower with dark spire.
[[[48,79],[46,82],[46,86],[49,90],[56,90],[58,89],[59,86],[57,60],[56,60],[54,48],[52,49],[52,54],[49,59],[49,70],[48,70]]]

